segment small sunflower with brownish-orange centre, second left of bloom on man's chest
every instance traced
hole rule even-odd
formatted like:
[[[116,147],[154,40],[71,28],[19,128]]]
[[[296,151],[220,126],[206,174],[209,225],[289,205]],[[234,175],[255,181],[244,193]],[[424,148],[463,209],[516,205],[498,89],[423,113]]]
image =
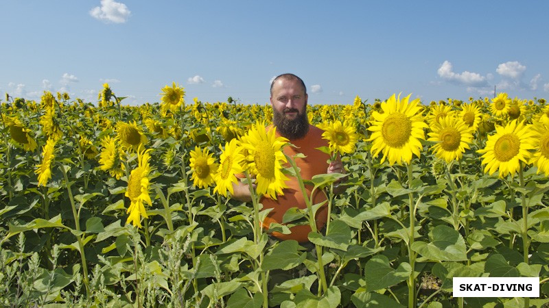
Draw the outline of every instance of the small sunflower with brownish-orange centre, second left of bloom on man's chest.
[[[200,149],[198,146],[191,151],[190,166],[193,171],[191,179],[197,188],[207,188],[213,184],[213,175],[218,170],[213,154],[208,149]]]

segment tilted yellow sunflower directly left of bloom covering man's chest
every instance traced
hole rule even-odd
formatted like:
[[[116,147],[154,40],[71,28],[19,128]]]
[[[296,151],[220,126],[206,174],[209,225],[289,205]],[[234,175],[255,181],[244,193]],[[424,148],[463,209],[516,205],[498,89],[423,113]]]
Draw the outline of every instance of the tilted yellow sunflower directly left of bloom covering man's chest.
[[[225,149],[221,149],[220,166],[213,176],[213,180],[215,181],[213,192],[217,192],[223,196],[227,196],[227,190],[231,194],[234,193],[233,183],[237,183],[235,175],[244,172],[245,157],[242,155],[241,149],[236,139],[226,142]]]

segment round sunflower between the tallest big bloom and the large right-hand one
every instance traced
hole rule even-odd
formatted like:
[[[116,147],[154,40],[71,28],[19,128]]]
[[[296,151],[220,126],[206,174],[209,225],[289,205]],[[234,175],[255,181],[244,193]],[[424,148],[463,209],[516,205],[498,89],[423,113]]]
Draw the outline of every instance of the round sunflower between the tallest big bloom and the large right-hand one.
[[[460,118],[441,118],[431,126],[431,130],[428,141],[436,142],[431,150],[436,157],[447,163],[461,159],[465,149],[470,149],[469,143],[473,135]]]

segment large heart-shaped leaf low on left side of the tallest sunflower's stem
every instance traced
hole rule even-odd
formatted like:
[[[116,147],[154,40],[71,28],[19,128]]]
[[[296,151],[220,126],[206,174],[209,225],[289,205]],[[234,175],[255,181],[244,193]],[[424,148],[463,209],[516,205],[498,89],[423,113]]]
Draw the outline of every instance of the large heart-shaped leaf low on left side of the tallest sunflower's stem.
[[[386,256],[375,255],[364,266],[364,292],[377,291],[401,283],[410,277],[411,272],[412,268],[406,262],[393,269]]]

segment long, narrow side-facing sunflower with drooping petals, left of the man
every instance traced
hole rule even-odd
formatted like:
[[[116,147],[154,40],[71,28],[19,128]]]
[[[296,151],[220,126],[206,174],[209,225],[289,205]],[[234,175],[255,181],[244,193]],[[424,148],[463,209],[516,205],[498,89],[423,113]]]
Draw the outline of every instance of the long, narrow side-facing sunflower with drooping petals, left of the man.
[[[135,227],[141,228],[141,217],[148,218],[147,211],[145,210],[145,205],[152,205],[149,195],[149,182],[150,182],[150,149],[140,151],[142,147],[139,147],[137,151],[137,160],[139,162],[137,168],[132,170],[130,177],[128,178],[128,189],[126,190],[125,196],[130,198],[130,206],[126,211],[128,220],[126,224],[132,222]]]

